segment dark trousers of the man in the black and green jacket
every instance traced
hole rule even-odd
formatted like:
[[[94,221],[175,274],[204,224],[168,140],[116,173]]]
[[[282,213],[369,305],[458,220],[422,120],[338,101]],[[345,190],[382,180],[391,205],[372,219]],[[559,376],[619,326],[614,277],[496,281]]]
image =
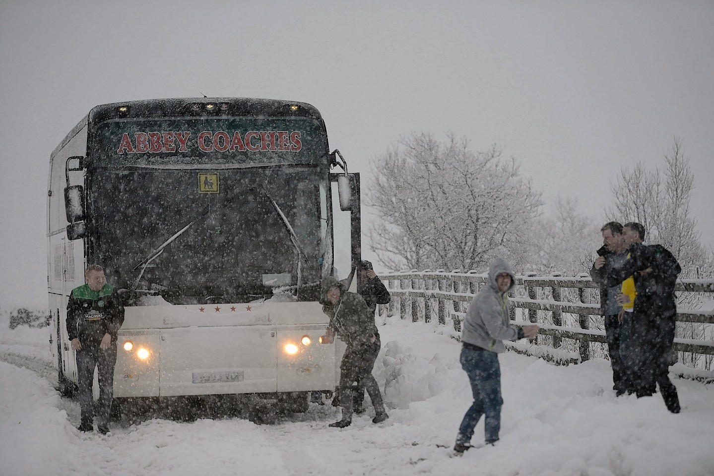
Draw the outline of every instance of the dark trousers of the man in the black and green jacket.
[[[116,343],[109,349],[83,347],[75,351],[77,373],[79,374],[79,407],[82,423],[94,421],[94,398],[92,384],[94,383],[94,367],[99,376],[99,402],[96,406],[100,423],[109,422],[111,398],[114,395],[114,365],[116,365]]]

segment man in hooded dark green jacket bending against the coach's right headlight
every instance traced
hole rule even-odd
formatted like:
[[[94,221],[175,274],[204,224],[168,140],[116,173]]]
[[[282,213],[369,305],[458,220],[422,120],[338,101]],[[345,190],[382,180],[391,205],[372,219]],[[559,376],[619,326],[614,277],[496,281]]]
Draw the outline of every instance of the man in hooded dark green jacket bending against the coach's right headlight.
[[[331,427],[343,428],[351,424],[353,412],[352,383],[363,385],[372,400],[376,412],[372,422],[383,422],[388,418],[377,381],[372,375],[381,343],[374,324],[374,313],[370,312],[361,295],[349,293],[336,278],[328,276],[321,283],[323,312],[330,317],[326,334],[337,337],[347,344],[340,364],[339,399],[342,418],[331,423]]]

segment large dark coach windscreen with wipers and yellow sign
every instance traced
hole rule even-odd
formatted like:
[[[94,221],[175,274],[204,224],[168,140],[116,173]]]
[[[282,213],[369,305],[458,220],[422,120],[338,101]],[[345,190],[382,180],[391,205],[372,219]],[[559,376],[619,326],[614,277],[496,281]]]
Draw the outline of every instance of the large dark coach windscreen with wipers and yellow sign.
[[[96,253],[119,287],[174,304],[248,302],[298,285],[298,298],[316,300],[331,250],[327,181],[310,166],[100,168]]]

